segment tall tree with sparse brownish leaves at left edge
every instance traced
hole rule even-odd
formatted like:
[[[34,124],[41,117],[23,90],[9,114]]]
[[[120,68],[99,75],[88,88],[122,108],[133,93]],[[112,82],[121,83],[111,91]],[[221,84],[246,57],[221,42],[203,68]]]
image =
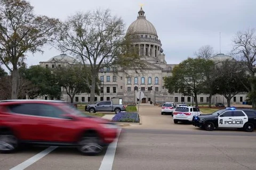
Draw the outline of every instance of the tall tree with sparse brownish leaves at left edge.
[[[18,67],[26,53],[42,52],[41,47],[52,40],[59,23],[47,16],[36,16],[33,8],[25,0],[0,1],[0,60],[12,74],[12,99],[18,98]]]

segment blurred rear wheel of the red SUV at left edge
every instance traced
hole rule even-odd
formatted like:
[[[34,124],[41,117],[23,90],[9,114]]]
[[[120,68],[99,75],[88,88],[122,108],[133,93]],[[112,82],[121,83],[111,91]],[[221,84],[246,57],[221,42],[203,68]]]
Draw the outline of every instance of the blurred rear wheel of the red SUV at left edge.
[[[12,134],[0,134],[0,152],[8,154],[18,148],[18,139]]]

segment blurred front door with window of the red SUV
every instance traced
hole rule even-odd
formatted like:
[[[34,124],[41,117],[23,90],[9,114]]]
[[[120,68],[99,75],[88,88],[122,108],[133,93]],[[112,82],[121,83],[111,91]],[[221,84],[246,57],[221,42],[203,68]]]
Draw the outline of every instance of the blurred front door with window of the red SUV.
[[[74,140],[76,121],[71,118],[63,118],[67,115],[58,106],[40,104],[40,130],[43,141],[49,142],[71,142]],[[71,115],[70,115],[71,117]]]

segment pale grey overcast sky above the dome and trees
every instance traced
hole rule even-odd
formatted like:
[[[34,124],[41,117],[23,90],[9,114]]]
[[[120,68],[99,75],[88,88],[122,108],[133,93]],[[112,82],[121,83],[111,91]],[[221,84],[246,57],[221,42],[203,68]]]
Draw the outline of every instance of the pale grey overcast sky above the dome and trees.
[[[123,18],[126,28],[137,19],[143,4],[146,19],[154,24],[162,41],[165,59],[178,64],[203,45],[211,45],[214,53],[229,54],[232,39],[239,30],[256,28],[255,0],[29,0],[35,13],[59,18],[77,11],[109,8]],[[28,66],[47,61],[60,52],[44,48],[44,54],[29,55]]]

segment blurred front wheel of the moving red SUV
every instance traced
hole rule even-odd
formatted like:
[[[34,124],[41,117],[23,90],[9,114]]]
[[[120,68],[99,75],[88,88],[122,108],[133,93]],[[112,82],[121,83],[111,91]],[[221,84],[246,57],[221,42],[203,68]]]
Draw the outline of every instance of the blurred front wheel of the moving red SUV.
[[[97,134],[87,134],[78,142],[78,150],[83,155],[98,155],[102,152],[102,142]]]

